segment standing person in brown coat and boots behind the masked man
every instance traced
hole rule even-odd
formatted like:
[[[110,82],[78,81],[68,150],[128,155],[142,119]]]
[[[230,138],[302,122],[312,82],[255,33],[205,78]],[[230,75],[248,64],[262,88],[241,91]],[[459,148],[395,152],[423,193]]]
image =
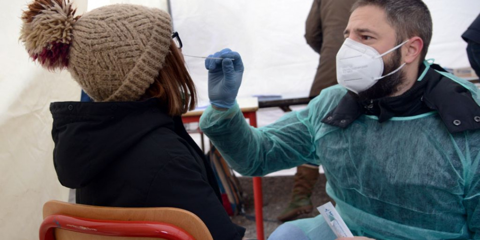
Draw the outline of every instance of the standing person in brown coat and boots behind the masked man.
[[[343,30],[347,26],[350,9],[356,0],[314,0],[305,22],[305,40],[320,54],[320,60],[310,89],[310,97],[322,89],[336,85],[335,56],[343,42]],[[318,165],[303,164],[297,167],[293,190],[288,206],[277,216],[285,222],[300,214],[310,213],[310,199],[317,183]]]

